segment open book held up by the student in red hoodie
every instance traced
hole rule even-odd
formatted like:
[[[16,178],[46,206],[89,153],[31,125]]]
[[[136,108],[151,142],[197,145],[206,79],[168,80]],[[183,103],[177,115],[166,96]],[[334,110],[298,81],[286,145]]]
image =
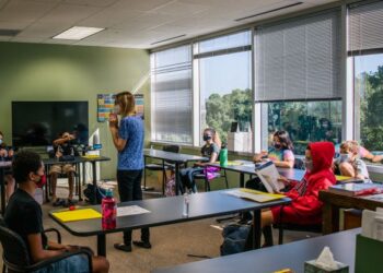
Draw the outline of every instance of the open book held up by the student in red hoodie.
[[[285,183],[279,181],[279,173],[276,165],[270,161],[263,164],[255,164],[255,173],[265,186],[267,192],[275,193],[285,189]]]

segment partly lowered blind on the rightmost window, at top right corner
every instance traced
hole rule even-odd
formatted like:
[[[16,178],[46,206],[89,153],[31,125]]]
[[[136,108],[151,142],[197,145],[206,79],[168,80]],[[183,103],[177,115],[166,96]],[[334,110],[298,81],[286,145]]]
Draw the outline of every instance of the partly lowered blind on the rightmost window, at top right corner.
[[[348,14],[348,50],[383,48],[383,2],[351,5]]]

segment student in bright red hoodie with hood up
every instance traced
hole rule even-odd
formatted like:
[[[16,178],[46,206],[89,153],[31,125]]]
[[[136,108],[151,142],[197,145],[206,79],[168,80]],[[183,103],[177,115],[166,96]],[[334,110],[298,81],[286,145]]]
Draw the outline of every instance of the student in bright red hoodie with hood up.
[[[306,173],[302,181],[283,182],[291,190],[285,192],[292,200],[291,204],[276,206],[262,213],[262,226],[270,226],[272,223],[291,223],[299,225],[322,224],[322,206],[318,192],[326,190],[336,183],[333,173],[333,157],[335,154],[332,142],[310,143],[305,151]],[[280,210],[283,207],[282,218],[279,219]],[[271,229],[264,228],[265,245],[272,245]]]

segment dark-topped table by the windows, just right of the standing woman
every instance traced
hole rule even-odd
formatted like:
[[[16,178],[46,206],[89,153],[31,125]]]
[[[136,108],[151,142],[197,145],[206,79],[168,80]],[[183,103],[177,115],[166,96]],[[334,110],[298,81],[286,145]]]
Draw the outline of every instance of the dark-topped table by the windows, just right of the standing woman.
[[[179,154],[179,153],[172,153],[172,152],[164,152],[161,150],[152,150],[152,149],[144,149],[143,150],[143,156],[162,159],[166,162],[174,163],[175,169],[174,169],[174,176],[175,176],[175,194],[178,195],[178,189],[179,189],[179,165],[186,164],[188,162],[207,162],[209,158],[197,156],[197,155],[189,155],[189,154]]]

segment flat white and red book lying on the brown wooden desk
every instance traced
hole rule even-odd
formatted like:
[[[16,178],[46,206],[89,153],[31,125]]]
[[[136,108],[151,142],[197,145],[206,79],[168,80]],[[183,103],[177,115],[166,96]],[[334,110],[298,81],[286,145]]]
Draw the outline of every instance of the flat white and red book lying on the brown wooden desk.
[[[369,195],[378,194],[383,192],[382,185],[379,183],[341,183],[335,185],[328,188],[329,192],[347,195],[347,197],[358,197],[358,195]]]

